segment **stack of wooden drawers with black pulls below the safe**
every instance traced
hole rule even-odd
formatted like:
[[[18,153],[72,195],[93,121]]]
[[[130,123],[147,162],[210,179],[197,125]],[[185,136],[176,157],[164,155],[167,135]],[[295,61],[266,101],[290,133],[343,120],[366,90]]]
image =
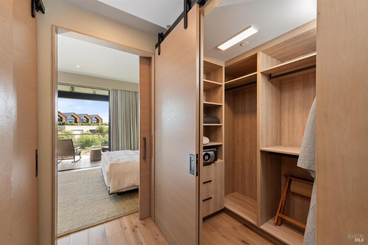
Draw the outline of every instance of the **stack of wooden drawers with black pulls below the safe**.
[[[208,216],[224,208],[224,161],[203,165],[203,211]]]

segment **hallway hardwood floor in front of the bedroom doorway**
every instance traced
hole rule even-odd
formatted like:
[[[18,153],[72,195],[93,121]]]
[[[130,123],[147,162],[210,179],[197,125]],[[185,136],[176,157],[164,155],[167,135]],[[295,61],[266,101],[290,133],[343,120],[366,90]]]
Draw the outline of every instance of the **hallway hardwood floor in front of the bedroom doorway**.
[[[133,213],[60,237],[58,245],[169,245],[151,218]]]

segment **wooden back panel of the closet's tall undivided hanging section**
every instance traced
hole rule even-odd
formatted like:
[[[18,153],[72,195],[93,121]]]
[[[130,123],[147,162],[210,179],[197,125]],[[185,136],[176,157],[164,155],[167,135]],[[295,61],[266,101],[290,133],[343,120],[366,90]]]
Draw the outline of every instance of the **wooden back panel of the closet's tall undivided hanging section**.
[[[225,92],[225,194],[256,200],[257,87]]]

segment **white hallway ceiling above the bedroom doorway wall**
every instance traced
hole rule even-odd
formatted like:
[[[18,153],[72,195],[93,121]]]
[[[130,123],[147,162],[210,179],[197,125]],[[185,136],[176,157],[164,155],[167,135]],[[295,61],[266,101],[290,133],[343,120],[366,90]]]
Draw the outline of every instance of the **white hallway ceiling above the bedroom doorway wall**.
[[[63,0],[157,35],[183,12],[183,0]]]

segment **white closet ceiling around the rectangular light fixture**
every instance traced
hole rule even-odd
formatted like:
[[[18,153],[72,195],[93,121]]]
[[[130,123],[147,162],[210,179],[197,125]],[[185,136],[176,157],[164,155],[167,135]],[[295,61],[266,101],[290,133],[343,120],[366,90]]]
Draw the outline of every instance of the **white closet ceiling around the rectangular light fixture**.
[[[223,0],[204,20],[204,54],[227,61],[316,18],[316,0]],[[227,50],[217,46],[253,25],[258,32]],[[247,46],[240,46],[242,42]]]

